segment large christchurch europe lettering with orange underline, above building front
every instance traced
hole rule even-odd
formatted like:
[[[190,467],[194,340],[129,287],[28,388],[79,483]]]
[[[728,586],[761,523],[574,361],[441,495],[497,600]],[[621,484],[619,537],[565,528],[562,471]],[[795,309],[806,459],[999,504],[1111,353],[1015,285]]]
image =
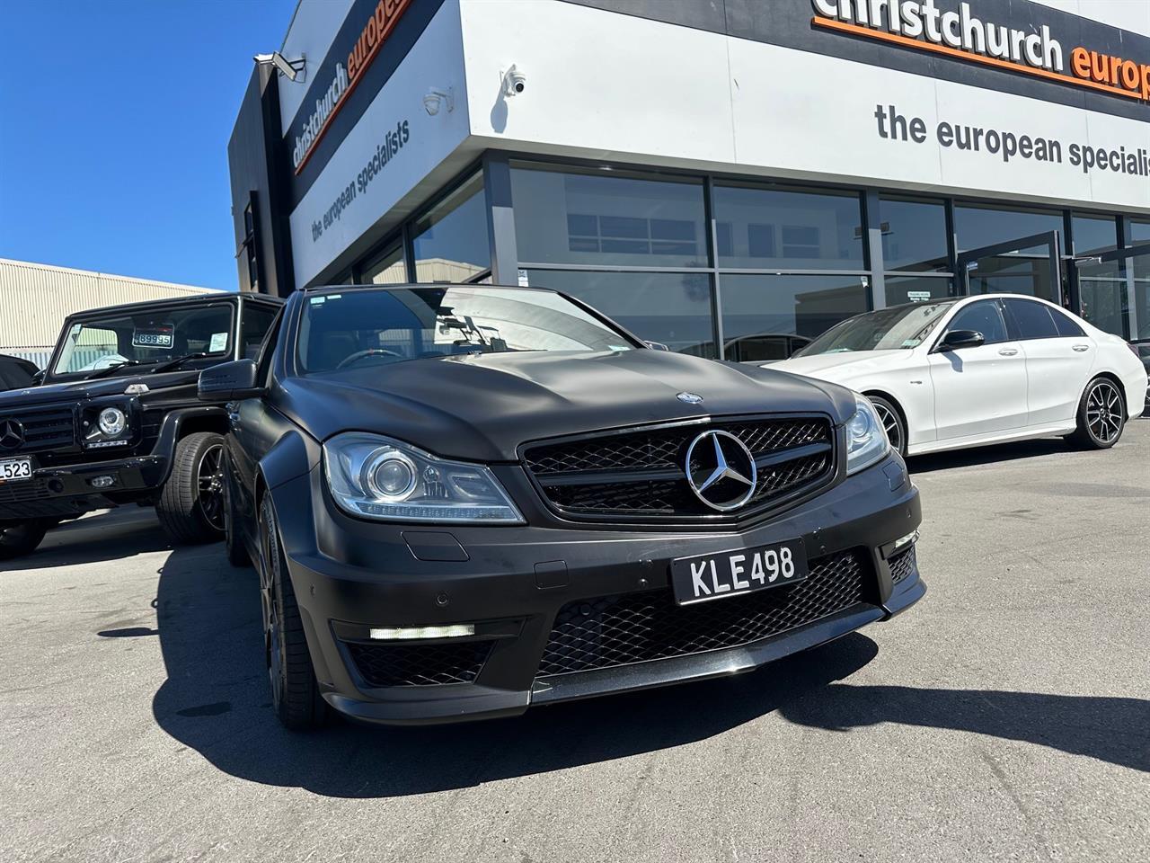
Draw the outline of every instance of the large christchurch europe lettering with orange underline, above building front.
[[[1083,46],[1066,51],[1045,24],[1010,28],[979,17],[967,2],[957,9],[936,0],[812,0],[812,6],[814,26],[1150,100],[1150,63]]]

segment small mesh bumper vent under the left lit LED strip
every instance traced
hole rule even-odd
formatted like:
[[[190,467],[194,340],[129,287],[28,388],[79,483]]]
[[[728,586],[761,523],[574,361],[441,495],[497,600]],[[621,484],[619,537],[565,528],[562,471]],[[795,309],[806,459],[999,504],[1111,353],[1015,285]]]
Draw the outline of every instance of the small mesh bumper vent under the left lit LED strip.
[[[440,644],[360,644],[347,650],[370,686],[470,683],[491,652],[490,641]]]

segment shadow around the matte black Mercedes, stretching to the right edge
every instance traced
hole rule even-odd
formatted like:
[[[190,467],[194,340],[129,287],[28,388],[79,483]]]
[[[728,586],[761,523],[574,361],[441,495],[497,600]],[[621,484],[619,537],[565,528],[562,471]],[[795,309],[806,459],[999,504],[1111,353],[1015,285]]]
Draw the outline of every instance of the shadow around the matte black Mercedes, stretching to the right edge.
[[[159,725],[232,776],[328,796],[402,796],[545,773],[704,740],[774,711],[823,728],[892,721],[973,731],[1150,769],[1150,702],[836,683],[877,656],[857,633],[752,674],[514,719],[423,728],[336,720],[293,734],[268,701],[252,570],[177,549],[155,604],[168,673],[153,700]]]

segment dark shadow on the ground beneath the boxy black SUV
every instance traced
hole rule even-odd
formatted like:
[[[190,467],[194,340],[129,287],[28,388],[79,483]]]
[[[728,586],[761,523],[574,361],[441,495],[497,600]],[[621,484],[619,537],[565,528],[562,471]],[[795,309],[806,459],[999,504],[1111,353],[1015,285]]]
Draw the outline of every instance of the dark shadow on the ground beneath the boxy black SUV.
[[[154,510],[120,506],[53,527],[31,555],[0,562],[0,572],[121,560],[169,548]]]

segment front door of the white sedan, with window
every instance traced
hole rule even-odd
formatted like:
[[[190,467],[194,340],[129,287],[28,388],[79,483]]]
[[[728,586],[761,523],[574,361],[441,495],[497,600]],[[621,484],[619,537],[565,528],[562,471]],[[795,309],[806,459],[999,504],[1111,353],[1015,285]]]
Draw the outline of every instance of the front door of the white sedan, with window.
[[[983,343],[940,351],[942,337],[959,329],[981,333]],[[960,306],[938,334],[928,366],[940,442],[995,437],[1026,425],[1026,359],[1006,329],[1000,300]]]

